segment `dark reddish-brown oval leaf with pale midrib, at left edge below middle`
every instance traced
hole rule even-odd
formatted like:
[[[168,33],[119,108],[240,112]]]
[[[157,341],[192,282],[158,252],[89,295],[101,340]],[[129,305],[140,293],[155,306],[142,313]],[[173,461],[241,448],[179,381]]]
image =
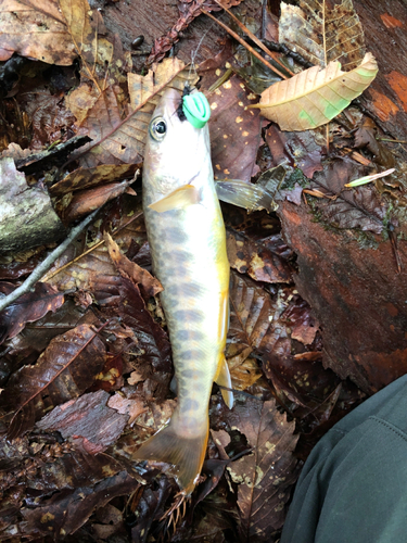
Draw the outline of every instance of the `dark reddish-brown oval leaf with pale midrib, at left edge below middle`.
[[[30,429],[50,406],[79,396],[104,362],[104,344],[88,325],[54,338],[37,364],[14,374],[0,395],[0,407],[13,412],[9,438]]]

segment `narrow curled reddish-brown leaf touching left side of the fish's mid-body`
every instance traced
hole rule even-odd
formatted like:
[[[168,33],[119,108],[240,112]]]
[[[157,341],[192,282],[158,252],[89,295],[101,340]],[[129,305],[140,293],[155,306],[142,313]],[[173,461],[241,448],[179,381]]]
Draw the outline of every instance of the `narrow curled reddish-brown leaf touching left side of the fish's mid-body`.
[[[112,261],[124,277],[129,277],[136,285],[141,285],[144,293],[149,298],[155,296],[155,294],[163,291],[163,287],[158,279],[135,262],[129,261],[107,232],[104,235],[104,240]]]

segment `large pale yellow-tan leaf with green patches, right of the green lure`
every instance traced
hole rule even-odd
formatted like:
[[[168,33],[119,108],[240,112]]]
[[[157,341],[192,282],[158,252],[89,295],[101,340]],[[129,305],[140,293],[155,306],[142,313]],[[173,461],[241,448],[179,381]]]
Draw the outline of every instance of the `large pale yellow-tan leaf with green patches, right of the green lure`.
[[[342,72],[340,62],[325,70],[314,66],[276,83],[262,93],[262,115],[274,121],[281,130],[308,130],[329,123],[369,87],[378,73],[371,53],[352,72]]]

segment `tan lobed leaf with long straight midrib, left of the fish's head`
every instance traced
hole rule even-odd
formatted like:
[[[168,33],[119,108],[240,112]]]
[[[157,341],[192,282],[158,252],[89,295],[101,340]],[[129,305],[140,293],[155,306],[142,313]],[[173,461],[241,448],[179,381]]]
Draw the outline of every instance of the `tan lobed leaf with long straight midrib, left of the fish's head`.
[[[128,74],[132,111],[125,118],[122,118],[117,96],[111,87],[106,88],[81,123],[81,132],[93,140],[89,152],[81,159],[81,165],[94,167],[98,164],[141,162],[151,113],[160,94],[168,86],[183,89],[186,80],[193,83],[196,79],[183,68],[183,62],[171,58],[154,65],[144,77]]]

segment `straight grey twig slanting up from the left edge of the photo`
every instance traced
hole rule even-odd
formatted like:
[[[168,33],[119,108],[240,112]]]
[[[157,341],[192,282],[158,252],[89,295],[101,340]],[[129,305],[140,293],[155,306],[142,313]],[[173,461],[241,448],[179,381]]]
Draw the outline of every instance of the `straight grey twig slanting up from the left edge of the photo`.
[[[61,254],[65,251],[65,249],[69,245],[72,241],[86,228],[89,223],[93,220],[97,213],[100,209],[93,211],[90,215],[86,217],[78,226],[75,226],[65,239],[56,249],[50,253],[44,261],[41,262],[31,273],[29,277],[13,292],[11,292],[8,296],[0,300],[0,311],[5,310],[10,304],[12,304],[15,300],[17,300],[21,295],[25,294],[30,290],[30,288],[39,280],[41,277],[49,270],[55,260],[61,256]]]

